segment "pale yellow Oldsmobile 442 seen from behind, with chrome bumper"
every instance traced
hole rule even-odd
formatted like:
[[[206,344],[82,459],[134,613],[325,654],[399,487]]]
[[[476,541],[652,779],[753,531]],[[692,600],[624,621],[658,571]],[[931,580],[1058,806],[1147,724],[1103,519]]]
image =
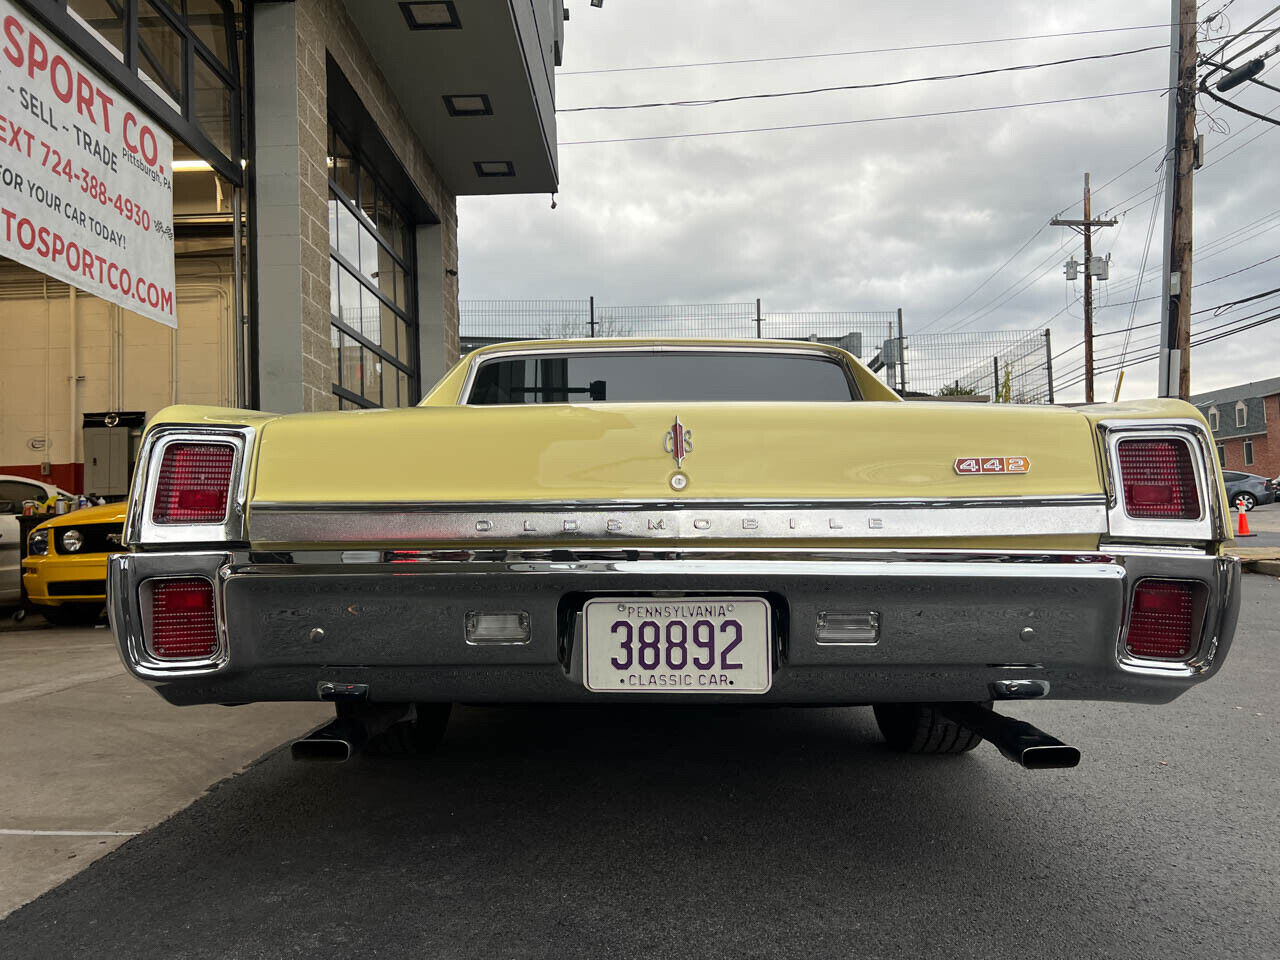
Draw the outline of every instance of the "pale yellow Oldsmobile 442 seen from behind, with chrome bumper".
[[[172,703],[334,701],[305,759],[425,749],[453,701],[696,700],[1065,767],[992,703],[1212,676],[1229,536],[1180,401],[908,403],[820,343],[541,340],[410,410],[161,411],[108,596]]]

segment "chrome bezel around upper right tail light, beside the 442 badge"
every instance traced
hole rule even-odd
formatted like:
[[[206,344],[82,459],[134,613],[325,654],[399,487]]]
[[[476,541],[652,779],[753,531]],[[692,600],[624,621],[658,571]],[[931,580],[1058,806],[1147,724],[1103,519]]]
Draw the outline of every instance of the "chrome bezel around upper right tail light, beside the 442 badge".
[[[1098,424],[1106,451],[1107,527],[1112,539],[1171,540],[1176,543],[1229,539],[1219,497],[1219,479],[1212,468],[1212,439],[1196,420],[1103,420]],[[1176,440],[1187,444],[1199,516],[1192,520],[1140,518],[1129,515],[1120,470],[1123,440]]]

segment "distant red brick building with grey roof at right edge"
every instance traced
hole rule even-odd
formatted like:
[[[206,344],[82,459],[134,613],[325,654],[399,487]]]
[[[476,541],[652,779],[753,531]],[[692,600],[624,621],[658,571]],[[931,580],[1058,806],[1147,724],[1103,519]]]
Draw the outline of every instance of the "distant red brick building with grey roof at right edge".
[[[1192,397],[1225,470],[1280,476],[1280,376]]]

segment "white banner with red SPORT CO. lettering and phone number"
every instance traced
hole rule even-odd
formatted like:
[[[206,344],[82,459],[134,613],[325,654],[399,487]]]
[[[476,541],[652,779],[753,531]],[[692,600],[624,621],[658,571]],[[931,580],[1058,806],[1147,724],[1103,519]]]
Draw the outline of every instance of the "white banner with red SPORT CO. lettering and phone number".
[[[173,141],[0,0],[0,253],[169,326]]]

